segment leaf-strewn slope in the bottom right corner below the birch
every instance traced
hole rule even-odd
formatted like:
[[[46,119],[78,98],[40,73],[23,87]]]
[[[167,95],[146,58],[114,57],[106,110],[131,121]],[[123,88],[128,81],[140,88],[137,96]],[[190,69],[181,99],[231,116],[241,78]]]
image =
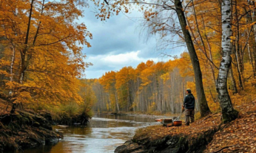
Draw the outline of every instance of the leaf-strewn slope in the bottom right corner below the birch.
[[[256,101],[237,110],[239,118],[217,131],[205,152],[256,152]]]

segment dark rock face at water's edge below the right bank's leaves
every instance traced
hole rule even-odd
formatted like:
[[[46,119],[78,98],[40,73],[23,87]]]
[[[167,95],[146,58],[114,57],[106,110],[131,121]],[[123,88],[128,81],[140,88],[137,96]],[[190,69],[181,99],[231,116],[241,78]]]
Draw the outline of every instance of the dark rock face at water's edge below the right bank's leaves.
[[[208,142],[213,139],[215,130],[208,131],[202,138],[189,141],[186,136],[165,136],[161,139],[151,140],[147,137],[141,137],[126,141],[124,145],[119,146],[115,153],[144,153],[144,152],[161,152],[161,153],[184,153],[184,152],[203,152]]]

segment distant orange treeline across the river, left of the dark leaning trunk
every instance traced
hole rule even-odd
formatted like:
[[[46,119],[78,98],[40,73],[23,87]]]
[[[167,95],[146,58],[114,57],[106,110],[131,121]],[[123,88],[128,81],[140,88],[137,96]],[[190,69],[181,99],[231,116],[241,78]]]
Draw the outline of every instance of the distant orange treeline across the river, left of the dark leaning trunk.
[[[181,56],[168,62],[148,60],[137,68],[124,67],[118,72],[106,72],[100,79],[87,80],[97,98],[95,111],[180,112],[187,88],[196,97],[189,56],[186,52]]]

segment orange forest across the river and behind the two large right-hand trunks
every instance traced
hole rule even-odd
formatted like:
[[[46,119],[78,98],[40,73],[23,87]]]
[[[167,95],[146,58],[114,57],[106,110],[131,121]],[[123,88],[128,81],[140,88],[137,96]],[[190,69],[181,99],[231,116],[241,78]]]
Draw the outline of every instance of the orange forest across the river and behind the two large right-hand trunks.
[[[172,48],[186,43],[177,19],[176,12],[168,6],[142,4],[144,26],[150,33],[160,35],[161,48]],[[220,110],[216,81],[220,71],[221,50],[221,3],[219,1],[189,1],[184,15],[186,17],[195,52],[200,62],[203,89],[211,112]],[[207,7],[205,7],[207,6]],[[146,8],[146,9],[143,9]],[[170,6],[171,8],[171,6]],[[255,89],[255,33],[254,2],[233,1],[231,7],[232,44],[231,58],[227,76],[228,93],[233,105],[254,99]],[[153,11],[154,10],[154,11]],[[118,13],[118,10],[116,10]],[[166,14],[170,13],[170,16]],[[103,17],[103,15],[100,15]],[[174,19],[173,19],[174,18]],[[103,18],[104,19],[104,18]],[[178,40],[171,39],[179,36]],[[170,53],[171,54],[171,53]],[[164,56],[169,56],[164,54]],[[181,111],[187,88],[197,97],[193,64],[190,54],[170,56],[168,62],[148,60],[137,67],[124,67],[117,72],[106,72],[101,78],[87,80],[95,91],[95,111],[98,112],[171,112]],[[198,102],[198,101],[197,101]],[[196,110],[199,110],[197,104]]]

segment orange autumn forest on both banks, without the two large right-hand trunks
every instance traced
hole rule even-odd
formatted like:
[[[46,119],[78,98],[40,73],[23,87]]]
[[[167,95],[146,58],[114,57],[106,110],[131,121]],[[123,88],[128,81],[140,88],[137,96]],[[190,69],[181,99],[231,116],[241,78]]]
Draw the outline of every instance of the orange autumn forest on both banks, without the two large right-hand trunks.
[[[173,6],[165,2],[161,4],[163,6],[140,2],[137,6],[126,6],[122,2],[109,6],[105,2],[100,4],[95,1],[96,5],[101,6],[101,12],[96,16],[108,20],[111,15],[118,15],[120,10],[129,13],[129,7],[134,7],[144,12],[144,27],[148,28],[150,34],[157,34],[161,48],[186,45],[179,19],[171,9]],[[221,3],[188,1],[184,4],[185,28],[189,31],[194,54],[200,62],[206,101],[210,110],[215,112],[220,110],[216,80],[222,58]],[[185,89],[192,89],[197,97],[193,62],[186,50],[181,55],[170,56],[168,62],[148,60],[137,67],[106,72],[99,79],[83,78],[86,76],[85,68],[92,64],[85,62],[82,46],[90,47],[87,39],[92,39],[92,33],[84,23],[75,22],[83,15],[76,5],[86,7],[87,3],[1,2],[2,96],[9,97],[9,101],[20,109],[23,109],[23,105],[33,109],[54,109],[51,105],[61,107],[74,103],[83,105],[88,111],[93,108],[95,112],[172,114],[180,111],[186,96]],[[232,43],[232,62],[227,86],[231,99],[236,99],[233,101],[235,105],[252,100],[254,94],[254,9],[252,1],[233,1],[231,7],[232,36],[229,41]],[[172,39],[173,36],[177,39]],[[169,54],[171,52],[164,56]],[[196,110],[199,109],[197,105]]]

